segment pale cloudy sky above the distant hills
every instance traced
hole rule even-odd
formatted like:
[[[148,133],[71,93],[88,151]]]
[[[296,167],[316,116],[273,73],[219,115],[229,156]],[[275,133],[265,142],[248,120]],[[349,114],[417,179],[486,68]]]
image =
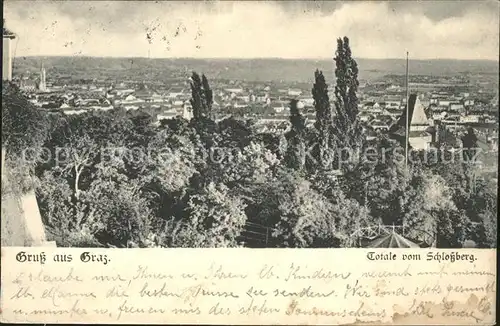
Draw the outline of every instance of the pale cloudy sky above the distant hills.
[[[16,56],[498,60],[492,1],[4,1]]]

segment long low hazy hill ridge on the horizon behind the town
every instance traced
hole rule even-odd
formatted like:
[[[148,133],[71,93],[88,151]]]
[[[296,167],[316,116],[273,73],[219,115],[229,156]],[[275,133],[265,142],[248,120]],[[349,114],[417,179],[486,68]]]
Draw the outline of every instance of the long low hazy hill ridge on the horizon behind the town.
[[[405,73],[405,59],[356,59],[360,78],[378,79],[384,75]],[[43,61],[46,69],[57,69],[69,74],[99,77],[99,73],[133,73],[154,71],[165,75],[189,75],[195,70],[210,79],[237,79],[247,81],[311,82],[314,70],[323,70],[328,80],[333,79],[333,60],[309,59],[147,59],[99,57],[18,57],[14,73],[37,71]],[[411,60],[413,75],[452,75],[460,73],[499,73],[498,61],[476,60]]]

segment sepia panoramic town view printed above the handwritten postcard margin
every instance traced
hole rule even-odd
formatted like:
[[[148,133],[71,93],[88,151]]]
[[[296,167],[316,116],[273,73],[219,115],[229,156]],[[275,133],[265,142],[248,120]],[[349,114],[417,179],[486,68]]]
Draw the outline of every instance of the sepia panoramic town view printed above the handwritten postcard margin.
[[[496,248],[498,10],[4,1],[1,245]]]

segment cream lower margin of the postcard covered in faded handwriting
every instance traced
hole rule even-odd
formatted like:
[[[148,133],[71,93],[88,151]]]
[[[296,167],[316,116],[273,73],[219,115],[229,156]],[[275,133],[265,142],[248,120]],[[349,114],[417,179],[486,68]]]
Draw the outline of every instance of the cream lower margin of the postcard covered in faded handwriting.
[[[77,249],[57,249],[59,256],[79,257]],[[473,253],[471,269],[468,260],[418,263],[414,258],[424,254],[399,251],[373,260],[356,250],[326,256],[321,250],[293,256],[280,256],[279,250],[222,256],[203,250],[100,250],[107,264],[90,266],[53,259],[8,264],[16,261],[9,250],[2,257],[10,265],[2,275],[2,316],[14,322],[470,325],[492,321],[495,312],[493,252],[487,251]],[[413,257],[411,264],[403,257]]]

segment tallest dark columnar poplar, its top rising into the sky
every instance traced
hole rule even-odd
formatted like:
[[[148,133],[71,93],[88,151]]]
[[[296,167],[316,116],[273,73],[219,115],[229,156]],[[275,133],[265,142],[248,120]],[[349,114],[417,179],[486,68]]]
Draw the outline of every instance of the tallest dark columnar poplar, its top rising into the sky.
[[[358,116],[358,65],[352,58],[349,39],[337,40],[335,56],[335,111],[334,131],[337,148],[357,150],[363,145],[363,133]]]

